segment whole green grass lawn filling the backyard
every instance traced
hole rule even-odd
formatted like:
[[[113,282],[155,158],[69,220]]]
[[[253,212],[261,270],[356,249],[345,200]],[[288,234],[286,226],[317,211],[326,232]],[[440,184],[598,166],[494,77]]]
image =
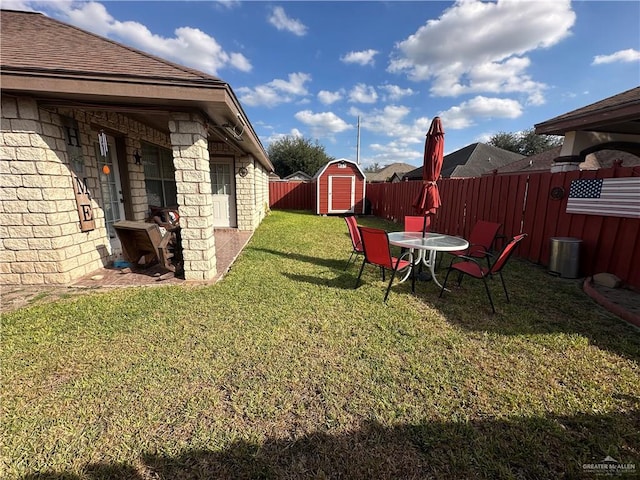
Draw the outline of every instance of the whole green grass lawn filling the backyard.
[[[350,251],[341,218],[275,211],[216,285],[4,314],[0,477],[640,471],[640,333],[578,281],[512,259],[495,315],[469,279],[442,299],[396,285],[385,305],[373,267],[353,289]]]

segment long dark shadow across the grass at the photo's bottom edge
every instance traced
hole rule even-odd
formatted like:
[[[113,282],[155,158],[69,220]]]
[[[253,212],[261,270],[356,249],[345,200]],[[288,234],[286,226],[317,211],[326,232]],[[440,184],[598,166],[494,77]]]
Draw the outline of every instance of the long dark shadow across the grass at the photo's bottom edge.
[[[237,441],[221,451],[186,450],[177,456],[143,453],[137,468],[98,463],[87,465],[82,476],[51,471],[22,478],[595,478],[584,464],[601,464],[607,456],[620,462],[619,472],[633,465],[636,470],[622,476],[637,478],[640,399],[628,403],[625,413],[604,415],[393,427],[370,421],[345,434]]]

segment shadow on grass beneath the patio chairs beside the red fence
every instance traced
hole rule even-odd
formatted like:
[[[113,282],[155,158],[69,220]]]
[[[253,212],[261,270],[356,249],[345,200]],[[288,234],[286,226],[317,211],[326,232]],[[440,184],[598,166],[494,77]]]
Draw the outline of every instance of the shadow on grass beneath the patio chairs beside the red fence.
[[[439,308],[447,321],[469,331],[580,335],[598,348],[640,361],[638,329],[596,304],[582,290],[580,281],[561,282],[550,278],[542,267],[523,260],[511,262],[513,269],[504,274],[510,303],[500,279],[489,280],[496,314],[491,313],[482,282],[473,279],[466,278],[458,288],[456,279],[450,278],[447,288],[451,292],[443,298],[439,298],[439,290],[421,297]],[[446,270],[440,272],[444,280]],[[532,290],[532,286],[536,288]]]

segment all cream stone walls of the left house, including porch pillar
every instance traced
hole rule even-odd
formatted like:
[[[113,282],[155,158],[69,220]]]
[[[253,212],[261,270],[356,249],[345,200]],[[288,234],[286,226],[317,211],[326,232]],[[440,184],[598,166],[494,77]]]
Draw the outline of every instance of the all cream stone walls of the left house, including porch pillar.
[[[39,108],[29,97],[2,96],[0,143],[0,284],[66,284],[108,264],[95,154],[101,128],[124,138],[133,219],[148,205],[144,169],[133,154],[141,141],[172,148],[185,249],[185,276],[208,280],[216,273],[209,150],[204,122],[174,114],[171,137],[115,112]],[[84,176],[92,195],[96,228],[81,232],[62,116],[78,122]],[[228,148],[224,146],[224,148]],[[225,150],[225,153],[228,153]],[[252,157],[236,157],[238,229],[252,231],[268,205],[268,173]]]

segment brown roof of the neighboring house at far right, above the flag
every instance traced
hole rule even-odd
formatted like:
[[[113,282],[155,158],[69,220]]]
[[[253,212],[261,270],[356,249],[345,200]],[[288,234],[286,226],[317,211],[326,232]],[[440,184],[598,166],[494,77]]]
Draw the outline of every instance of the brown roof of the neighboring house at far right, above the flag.
[[[569,131],[640,134],[640,87],[535,125],[537,134],[564,135]]]

